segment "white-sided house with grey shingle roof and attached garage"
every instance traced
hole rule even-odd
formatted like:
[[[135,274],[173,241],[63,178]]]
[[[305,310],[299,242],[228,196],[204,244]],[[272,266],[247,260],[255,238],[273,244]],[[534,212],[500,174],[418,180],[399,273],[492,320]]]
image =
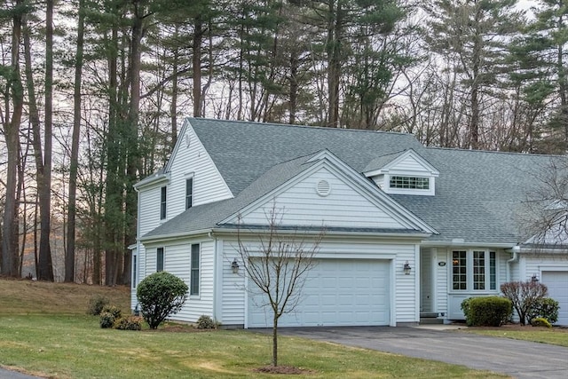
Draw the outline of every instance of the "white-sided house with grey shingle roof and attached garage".
[[[534,249],[516,221],[550,159],[426,147],[403,133],[188,118],[163,170],[135,186],[132,308],[138,282],[165,270],[189,287],[173,319],[270,326],[231,266],[239,223],[265,226],[276,207],[283,226],[327,231],[304,299],[280,326],[462,320],[463,299],[533,277],[568,325],[568,253]]]

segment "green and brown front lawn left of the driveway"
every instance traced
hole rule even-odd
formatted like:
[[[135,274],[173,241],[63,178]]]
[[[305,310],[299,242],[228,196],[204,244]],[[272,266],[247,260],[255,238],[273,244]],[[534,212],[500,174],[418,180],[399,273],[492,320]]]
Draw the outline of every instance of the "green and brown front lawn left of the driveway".
[[[129,308],[124,288],[0,280],[0,367],[64,379],[290,377],[254,371],[271,359],[271,337],[263,334],[101,329],[97,317],[84,314],[100,291]],[[291,337],[280,337],[280,364],[310,370],[294,378],[507,377]]]

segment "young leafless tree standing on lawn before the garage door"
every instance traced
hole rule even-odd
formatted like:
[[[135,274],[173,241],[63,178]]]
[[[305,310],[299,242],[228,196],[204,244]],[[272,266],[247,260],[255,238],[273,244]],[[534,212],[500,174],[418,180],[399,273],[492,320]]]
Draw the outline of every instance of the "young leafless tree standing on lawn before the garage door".
[[[241,220],[238,230],[238,254],[254,287],[248,288],[248,292],[260,291],[264,295],[260,305],[272,311],[272,366],[278,366],[278,320],[300,304],[304,284],[325,235],[323,228],[316,233],[287,230],[282,226],[282,216],[273,205],[266,212],[266,230],[256,233],[252,241]]]

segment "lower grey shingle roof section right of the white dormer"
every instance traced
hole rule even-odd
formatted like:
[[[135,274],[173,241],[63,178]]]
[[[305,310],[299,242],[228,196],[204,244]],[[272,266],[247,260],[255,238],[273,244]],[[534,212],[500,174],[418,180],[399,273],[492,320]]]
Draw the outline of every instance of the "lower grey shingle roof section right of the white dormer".
[[[519,215],[549,155],[426,147],[439,172],[436,196],[391,195],[438,230],[430,241],[513,246],[526,240]]]

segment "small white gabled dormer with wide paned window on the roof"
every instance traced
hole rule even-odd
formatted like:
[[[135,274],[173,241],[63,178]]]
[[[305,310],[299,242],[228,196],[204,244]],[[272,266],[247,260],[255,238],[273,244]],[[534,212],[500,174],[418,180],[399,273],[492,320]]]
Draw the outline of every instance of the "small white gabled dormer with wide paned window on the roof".
[[[363,174],[385,193],[436,194],[438,170],[414,150],[384,155],[367,164]]]

